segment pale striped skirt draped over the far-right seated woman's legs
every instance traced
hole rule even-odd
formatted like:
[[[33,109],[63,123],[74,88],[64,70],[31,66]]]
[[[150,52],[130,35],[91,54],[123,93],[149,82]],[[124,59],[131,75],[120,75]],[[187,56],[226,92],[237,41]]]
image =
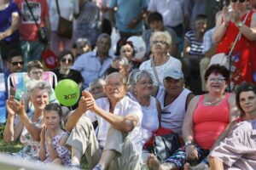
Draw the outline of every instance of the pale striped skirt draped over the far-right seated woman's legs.
[[[224,162],[224,169],[256,169],[256,120],[236,124],[212,152]]]

